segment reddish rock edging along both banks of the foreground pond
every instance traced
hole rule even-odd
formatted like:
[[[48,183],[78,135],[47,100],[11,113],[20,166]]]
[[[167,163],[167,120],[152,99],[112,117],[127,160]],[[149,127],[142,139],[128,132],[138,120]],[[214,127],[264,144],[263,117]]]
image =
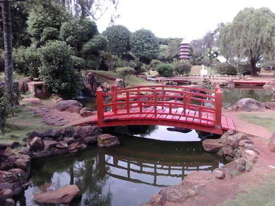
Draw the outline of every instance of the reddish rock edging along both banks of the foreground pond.
[[[23,192],[30,184],[30,161],[33,158],[63,153],[75,153],[88,144],[97,142],[99,147],[119,145],[117,137],[101,134],[97,126],[78,126],[49,129],[43,133],[32,131],[27,137],[27,147],[15,155],[8,145],[0,146],[0,205],[15,205],[12,197]],[[143,205],[163,205],[168,202],[182,202],[190,196],[199,195],[202,187],[216,179],[232,178],[234,175],[251,169],[256,162],[258,151],[253,141],[243,133],[225,132],[220,139],[202,141],[205,151],[216,152],[231,162],[216,168],[212,174],[193,171],[179,185],[167,186],[158,194],[152,195],[150,202]]]

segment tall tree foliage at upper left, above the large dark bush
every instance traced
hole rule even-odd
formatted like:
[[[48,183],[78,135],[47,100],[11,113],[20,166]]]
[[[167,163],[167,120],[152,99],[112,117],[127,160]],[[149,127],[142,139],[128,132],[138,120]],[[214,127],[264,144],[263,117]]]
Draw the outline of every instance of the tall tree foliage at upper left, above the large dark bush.
[[[53,1],[52,4],[54,9],[42,6],[33,8],[29,13],[27,31],[36,47],[43,45],[47,40],[58,39],[61,24],[69,19],[67,11],[58,1]]]

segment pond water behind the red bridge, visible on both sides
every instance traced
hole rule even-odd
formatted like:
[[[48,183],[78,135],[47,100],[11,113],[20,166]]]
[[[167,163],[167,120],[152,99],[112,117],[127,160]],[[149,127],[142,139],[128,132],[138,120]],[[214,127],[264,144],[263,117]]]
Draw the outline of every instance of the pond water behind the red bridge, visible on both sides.
[[[273,94],[274,95],[274,94]],[[262,88],[222,88],[222,103],[224,106],[231,106],[241,98],[253,98],[260,102],[270,101],[272,99],[272,92],[266,91]],[[275,98],[275,96],[273,96]],[[85,97],[78,99],[83,106],[89,108],[96,108],[96,97]]]

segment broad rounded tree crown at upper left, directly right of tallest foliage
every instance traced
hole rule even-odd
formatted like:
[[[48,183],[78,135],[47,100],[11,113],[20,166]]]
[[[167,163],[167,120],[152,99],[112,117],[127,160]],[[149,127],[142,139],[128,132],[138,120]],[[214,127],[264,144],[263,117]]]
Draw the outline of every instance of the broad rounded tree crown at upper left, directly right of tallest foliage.
[[[62,23],[59,38],[77,50],[81,50],[83,43],[91,39],[95,34],[98,34],[95,22],[72,19]]]

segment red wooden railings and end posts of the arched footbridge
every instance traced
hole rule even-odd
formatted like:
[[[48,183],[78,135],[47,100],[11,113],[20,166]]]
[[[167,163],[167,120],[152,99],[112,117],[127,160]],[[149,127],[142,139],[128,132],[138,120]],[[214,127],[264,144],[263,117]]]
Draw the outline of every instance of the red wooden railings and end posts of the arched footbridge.
[[[104,98],[111,99],[111,102],[104,103]],[[99,87],[96,99],[99,124],[112,116],[142,114],[145,111],[152,117],[166,114],[194,118],[197,122],[212,122],[217,127],[221,124],[222,92],[218,85],[215,90],[171,85],[119,89],[113,85],[110,92],[103,92]],[[104,113],[106,108],[111,108],[111,112]]]

